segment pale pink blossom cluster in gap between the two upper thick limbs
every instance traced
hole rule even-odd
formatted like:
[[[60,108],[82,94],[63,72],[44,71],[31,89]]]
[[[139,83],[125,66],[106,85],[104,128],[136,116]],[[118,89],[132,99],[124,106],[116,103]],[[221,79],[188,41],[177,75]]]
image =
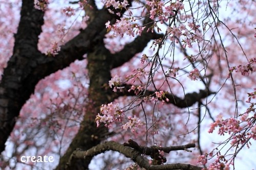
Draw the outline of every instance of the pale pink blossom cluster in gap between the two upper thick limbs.
[[[105,23],[107,31],[113,31],[115,35],[123,37],[124,34],[129,36],[141,35],[145,27],[139,26],[134,22],[134,17],[117,19],[114,25],[110,25],[110,21]]]

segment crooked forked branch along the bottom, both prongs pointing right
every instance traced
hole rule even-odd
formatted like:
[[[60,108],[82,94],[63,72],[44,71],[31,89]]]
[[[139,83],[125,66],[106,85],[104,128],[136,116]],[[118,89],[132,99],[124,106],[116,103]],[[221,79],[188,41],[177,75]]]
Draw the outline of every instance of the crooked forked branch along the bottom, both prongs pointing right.
[[[75,159],[91,159],[92,157],[104,153],[105,151],[117,151],[127,158],[131,158],[135,163],[137,163],[140,167],[143,167],[148,170],[161,170],[161,169],[187,169],[187,170],[201,170],[202,167],[194,166],[190,164],[182,164],[182,163],[173,163],[173,164],[161,164],[161,165],[151,165],[149,160],[144,158],[142,155],[148,155],[152,157],[152,152],[158,152],[158,150],[164,151],[165,153],[169,153],[170,151],[177,150],[187,150],[187,148],[195,148],[194,143],[189,143],[186,145],[180,145],[176,147],[141,147],[135,141],[129,140],[129,143],[120,144],[115,141],[106,141],[104,143],[98,144],[95,147],[82,151],[80,149],[76,149],[71,155],[69,162],[66,164],[66,169],[70,169],[69,165],[72,164],[72,161]],[[148,151],[147,151],[148,150]],[[189,151],[190,152],[190,151]]]

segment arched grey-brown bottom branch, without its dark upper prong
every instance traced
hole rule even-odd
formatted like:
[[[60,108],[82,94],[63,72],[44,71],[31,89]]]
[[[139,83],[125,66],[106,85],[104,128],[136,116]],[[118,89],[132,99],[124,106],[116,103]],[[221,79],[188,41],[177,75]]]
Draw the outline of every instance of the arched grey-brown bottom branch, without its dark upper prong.
[[[182,149],[183,146],[177,146],[178,148]],[[168,147],[169,148],[169,147]],[[165,164],[165,165],[150,165],[148,159],[141,156],[141,152],[137,151],[136,149],[132,149],[128,146],[123,144],[117,143],[115,141],[106,141],[104,143],[98,144],[95,147],[87,150],[81,151],[77,149],[71,155],[69,162],[66,164],[66,168],[69,169],[69,165],[72,164],[72,161],[75,159],[91,159],[93,156],[96,156],[100,153],[104,153],[105,151],[117,151],[127,158],[131,158],[134,162],[136,162],[140,167],[144,167],[148,170],[155,170],[155,169],[191,169],[191,170],[201,170],[202,167],[194,166],[190,164],[182,164],[182,163],[173,163],[173,164]]]

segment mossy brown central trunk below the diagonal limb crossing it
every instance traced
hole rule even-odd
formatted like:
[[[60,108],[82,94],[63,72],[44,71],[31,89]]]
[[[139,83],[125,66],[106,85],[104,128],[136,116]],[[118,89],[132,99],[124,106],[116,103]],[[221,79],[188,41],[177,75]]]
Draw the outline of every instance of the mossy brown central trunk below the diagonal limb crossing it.
[[[56,169],[64,169],[65,164],[68,162],[70,155],[76,148],[88,150],[99,144],[102,138],[108,134],[108,129],[104,126],[96,127],[95,116],[99,112],[99,107],[104,103],[113,101],[111,89],[105,89],[111,79],[110,61],[106,57],[108,50],[104,47],[103,40],[97,45],[97,51],[88,53],[88,76],[90,79],[90,86],[88,89],[88,100],[90,101],[84,108],[84,120],[81,123],[80,130],[72,140],[69,149],[60,158],[59,165]],[[77,159],[70,164],[69,169],[88,169],[90,159],[81,160]]]

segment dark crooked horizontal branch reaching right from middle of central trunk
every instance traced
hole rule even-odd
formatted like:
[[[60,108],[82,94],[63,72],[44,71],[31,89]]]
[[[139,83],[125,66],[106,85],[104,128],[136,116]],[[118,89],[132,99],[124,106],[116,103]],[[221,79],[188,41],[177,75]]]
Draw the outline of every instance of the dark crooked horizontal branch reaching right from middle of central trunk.
[[[128,91],[132,85],[129,84],[123,84],[121,85],[122,90],[114,93],[113,95],[115,96],[114,98],[117,99],[120,96],[135,96],[135,93],[133,90],[130,92]],[[199,92],[193,92],[193,93],[186,93],[184,98],[180,98],[175,94],[165,94],[165,98],[163,99],[167,104],[173,104],[179,108],[186,108],[194,105],[195,103],[201,101],[204,98],[207,98],[207,96],[211,94],[215,94],[216,92],[212,92],[209,90],[199,90]],[[154,96],[156,98],[155,91],[150,91],[147,90],[145,92],[145,96]],[[144,97],[144,96],[141,96]],[[169,100],[169,102],[166,101],[166,99]]]

